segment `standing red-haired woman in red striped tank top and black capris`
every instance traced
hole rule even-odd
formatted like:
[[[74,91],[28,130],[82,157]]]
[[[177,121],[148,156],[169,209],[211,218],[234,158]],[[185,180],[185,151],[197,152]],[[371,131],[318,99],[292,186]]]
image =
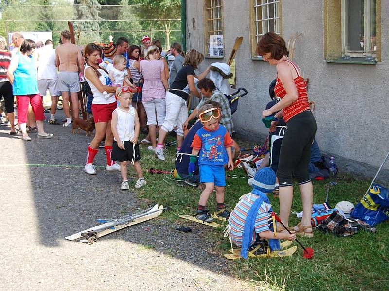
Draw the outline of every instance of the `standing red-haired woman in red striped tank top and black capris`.
[[[289,213],[293,201],[292,175],[298,181],[303,217],[294,227],[297,234],[313,237],[311,227],[311,212],[313,186],[309,178],[308,164],[311,155],[311,145],[316,134],[316,121],[309,109],[308,95],[300,68],[288,60],[288,50],[282,37],[274,32],[268,32],[257,44],[257,53],[264,61],[277,67],[277,82],[275,94],[281,98],[270,109],[264,110],[264,117],[280,111],[276,117],[283,116],[287,125],[283,137],[277,178],[280,184],[280,218],[289,225]],[[278,115],[278,116],[277,116]],[[271,130],[277,122],[273,122]],[[280,228],[280,231],[282,228]]]

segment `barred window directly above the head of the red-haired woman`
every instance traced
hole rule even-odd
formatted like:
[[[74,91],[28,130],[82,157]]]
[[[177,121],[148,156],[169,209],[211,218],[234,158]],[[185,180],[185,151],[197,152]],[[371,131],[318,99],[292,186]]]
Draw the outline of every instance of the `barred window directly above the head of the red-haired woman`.
[[[255,17],[254,20],[254,36],[256,43],[267,32],[270,31],[270,20],[274,20],[274,32],[281,35],[281,15],[280,5],[281,0],[253,0],[253,8]],[[274,16],[269,17],[269,6],[273,5]],[[267,13],[267,14],[266,14]],[[266,17],[267,15],[267,17]],[[262,33],[260,33],[260,27],[262,27]],[[254,43],[253,43],[254,45]],[[255,58],[262,59],[262,56],[255,56]]]

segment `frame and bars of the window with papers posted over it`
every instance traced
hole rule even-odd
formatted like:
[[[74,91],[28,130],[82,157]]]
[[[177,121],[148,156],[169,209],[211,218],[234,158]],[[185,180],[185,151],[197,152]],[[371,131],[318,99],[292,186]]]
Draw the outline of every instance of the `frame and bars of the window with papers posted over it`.
[[[217,3],[220,1],[220,5]],[[205,5],[206,3],[209,3],[210,7],[207,7]],[[205,29],[204,29],[204,38],[205,38],[205,55],[206,57],[210,57],[210,36],[211,35],[219,35],[222,34],[224,36],[224,13],[223,13],[223,0],[205,0],[204,1],[204,24],[205,24]],[[215,12],[217,8],[221,8],[221,15],[219,17],[215,18]],[[215,22],[214,21],[220,21],[220,27],[221,29],[216,29],[215,28]],[[221,32],[221,33],[220,33]],[[223,48],[224,52],[224,48]],[[210,57],[210,58],[224,58],[225,52],[223,56],[220,57]]]

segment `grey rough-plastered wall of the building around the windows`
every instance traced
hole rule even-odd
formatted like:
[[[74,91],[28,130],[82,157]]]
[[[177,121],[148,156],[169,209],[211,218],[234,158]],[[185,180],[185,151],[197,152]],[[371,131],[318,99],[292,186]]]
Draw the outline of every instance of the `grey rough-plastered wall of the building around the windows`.
[[[261,112],[270,101],[268,86],[276,68],[251,59],[249,0],[223,2],[226,57],[207,58],[200,70],[213,62],[227,62],[235,38],[244,37],[236,55],[236,86],[249,93],[240,99],[233,121],[239,132],[265,136]],[[376,169],[389,150],[389,52],[385,49],[389,47],[389,18],[384,17],[389,15],[389,1],[381,1],[382,61],[377,65],[324,61],[323,2],[282,0],[282,36],[287,40],[295,32],[303,34],[296,43],[294,61],[310,79],[308,96],[316,102],[320,148],[344,163],[355,161],[353,171],[363,172],[365,164]],[[203,0],[187,1],[187,23],[188,49],[204,53]],[[388,175],[388,169],[389,162],[382,173]]]

